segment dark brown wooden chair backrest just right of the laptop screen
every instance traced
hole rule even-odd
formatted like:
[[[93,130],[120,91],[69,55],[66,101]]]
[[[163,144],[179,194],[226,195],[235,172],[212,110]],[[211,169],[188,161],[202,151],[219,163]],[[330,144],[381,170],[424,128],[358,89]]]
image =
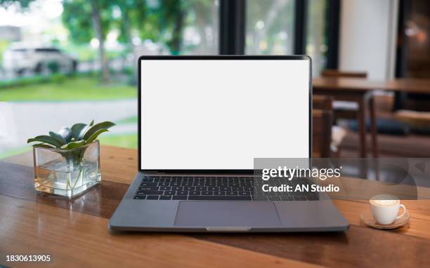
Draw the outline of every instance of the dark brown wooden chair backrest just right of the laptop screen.
[[[312,100],[312,156],[330,157],[332,143],[333,98],[313,96]]]

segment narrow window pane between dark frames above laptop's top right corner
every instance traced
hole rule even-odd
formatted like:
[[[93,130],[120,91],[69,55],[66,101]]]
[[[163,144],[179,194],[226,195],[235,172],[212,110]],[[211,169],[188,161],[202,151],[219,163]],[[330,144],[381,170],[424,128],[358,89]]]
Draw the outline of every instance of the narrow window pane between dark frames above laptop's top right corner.
[[[312,74],[318,76],[327,62],[327,1],[308,0],[306,11],[306,54],[312,58]]]

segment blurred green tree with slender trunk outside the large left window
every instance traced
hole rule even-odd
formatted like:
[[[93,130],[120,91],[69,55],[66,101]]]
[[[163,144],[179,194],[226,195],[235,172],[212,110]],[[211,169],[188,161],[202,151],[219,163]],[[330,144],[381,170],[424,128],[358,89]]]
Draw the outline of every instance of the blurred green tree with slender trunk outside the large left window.
[[[0,5],[19,3],[26,10],[34,0],[0,0]],[[201,1],[201,0],[193,0]],[[74,43],[98,40],[102,80],[110,79],[105,39],[111,30],[119,32],[118,41],[133,48],[133,37],[165,43],[173,55],[181,51],[184,25],[182,0],[63,0],[63,25]]]

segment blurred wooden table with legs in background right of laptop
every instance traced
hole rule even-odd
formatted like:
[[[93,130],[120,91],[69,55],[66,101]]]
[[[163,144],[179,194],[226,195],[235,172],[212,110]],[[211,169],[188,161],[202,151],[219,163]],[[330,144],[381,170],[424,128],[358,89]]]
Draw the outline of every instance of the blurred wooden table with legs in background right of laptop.
[[[372,81],[362,78],[318,77],[313,79],[313,93],[331,95],[335,100],[358,103],[358,128],[360,131],[360,157],[366,157],[366,106],[370,109],[370,131],[373,156],[378,156],[376,112],[372,94],[379,91],[402,91],[406,93],[430,94],[430,79],[391,79]]]

